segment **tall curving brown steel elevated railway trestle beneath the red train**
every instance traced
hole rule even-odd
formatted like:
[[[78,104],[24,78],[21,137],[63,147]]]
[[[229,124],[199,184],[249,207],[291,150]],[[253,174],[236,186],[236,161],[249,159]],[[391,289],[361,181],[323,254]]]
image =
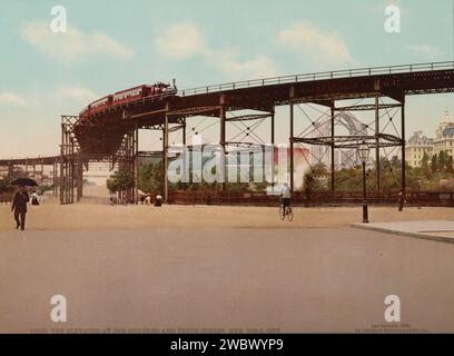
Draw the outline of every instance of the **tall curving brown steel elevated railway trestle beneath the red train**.
[[[136,177],[130,198],[138,201],[137,176],[139,162],[139,130],[158,130],[162,134],[162,159],[169,162],[169,134],[181,132],[186,145],[188,120],[213,118],[219,127],[218,144],[228,150],[230,144],[276,144],[276,127],[288,129],[289,184],[295,189],[295,149],[320,147],[329,157],[330,190],[336,190],[335,154],[356,150],[366,142],[374,152],[375,191],[382,189],[381,160],[389,151],[399,150],[402,169],[399,188],[405,185],[405,102],[406,97],[440,95],[454,91],[454,61],[416,63],[340,71],[306,73],[229,82],[180,90],[174,95],[144,97],[109,105],[91,116],[61,117],[60,199],[75,201],[73,190],[81,196],[81,172],[90,161],[118,164]],[[318,108],[315,116],[307,115],[305,106]],[[285,117],[276,117],[278,107],[287,107]],[[296,111],[295,109],[299,109]],[[304,113],[299,120],[296,113]],[[369,118],[347,134],[337,123],[352,113],[367,113]],[[352,121],[351,119],[348,119]],[[358,119],[359,120],[359,119]],[[305,122],[303,131],[298,127]],[[266,138],[259,137],[257,125],[268,123]],[[240,128],[239,139],[229,139],[227,128]],[[320,130],[324,126],[325,129]],[[352,125],[351,125],[352,126]],[[190,132],[194,134],[194,132]],[[167,170],[165,169],[165,175]],[[167,177],[165,199],[169,197]]]

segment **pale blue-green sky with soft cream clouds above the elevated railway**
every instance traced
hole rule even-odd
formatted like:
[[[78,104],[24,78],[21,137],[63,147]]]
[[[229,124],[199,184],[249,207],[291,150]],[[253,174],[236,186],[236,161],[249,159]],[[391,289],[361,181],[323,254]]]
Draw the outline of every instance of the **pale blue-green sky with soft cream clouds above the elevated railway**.
[[[453,2],[0,0],[0,157],[57,154],[60,115],[136,85],[176,78],[185,89],[454,60]],[[65,33],[50,30],[56,6],[66,9]],[[401,10],[399,32],[385,30],[388,6]],[[454,115],[453,99],[408,98],[408,135],[432,136],[445,110]],[[277,119],[286,115],[279,110]],[[155,149],[156,135],[144,138],[141,149]],[[278,129],[279,141],[287,137]]]

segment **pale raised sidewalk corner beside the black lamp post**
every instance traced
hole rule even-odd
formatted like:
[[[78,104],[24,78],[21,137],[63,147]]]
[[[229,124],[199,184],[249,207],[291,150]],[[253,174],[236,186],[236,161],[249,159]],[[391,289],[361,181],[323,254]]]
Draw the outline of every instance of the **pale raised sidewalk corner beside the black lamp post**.
[[[454,221],[448,220],[352,224],[352,227],[454,244]]]

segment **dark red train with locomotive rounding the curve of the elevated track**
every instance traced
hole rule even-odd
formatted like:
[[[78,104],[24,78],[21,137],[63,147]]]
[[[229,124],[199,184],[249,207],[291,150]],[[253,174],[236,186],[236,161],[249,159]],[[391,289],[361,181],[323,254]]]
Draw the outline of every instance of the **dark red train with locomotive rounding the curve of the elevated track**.
[[[166,85],[164,82],[157,82],[151,86],[142,85],[130,89],[117,91],[114,95],[109,95],[107,97],[103,97],[91,102],[88,107],[80,111],[79,117],[89,118],[98,112],[108,109],[109,107],[132,102],[144,98],[170,97],[175,96],[178,90],[175,85],[175,79],[172,86]]]

